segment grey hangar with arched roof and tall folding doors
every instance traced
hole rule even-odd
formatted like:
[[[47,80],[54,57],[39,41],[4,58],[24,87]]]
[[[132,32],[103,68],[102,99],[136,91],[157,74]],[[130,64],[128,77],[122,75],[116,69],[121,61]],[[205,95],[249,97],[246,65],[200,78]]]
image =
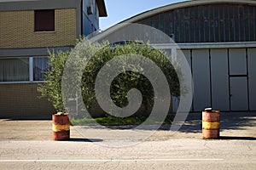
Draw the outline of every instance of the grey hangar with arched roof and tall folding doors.
[[[191,111],[203,111],[206,107],[220,111],[256,111],[255,1],[174,3],[137,14],[94,40],[123,37],[127,34],[122,31],[125,23],[152,26],[177,43],[179,49],[172,48],[172,43],[159,43],[155,47],[172,50],[177,58],[183,52],[186,57],[194,82]],[[160,38],[146,31],[142,34],[146,39]]]

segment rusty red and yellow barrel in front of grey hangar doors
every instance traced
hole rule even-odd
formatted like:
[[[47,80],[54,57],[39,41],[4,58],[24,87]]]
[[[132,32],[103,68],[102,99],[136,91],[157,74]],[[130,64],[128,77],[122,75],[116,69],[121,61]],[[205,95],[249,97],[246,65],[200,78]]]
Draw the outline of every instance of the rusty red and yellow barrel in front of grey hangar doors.
[[[202,111],[202,133],[203,139],[219,138],[219,111]]]

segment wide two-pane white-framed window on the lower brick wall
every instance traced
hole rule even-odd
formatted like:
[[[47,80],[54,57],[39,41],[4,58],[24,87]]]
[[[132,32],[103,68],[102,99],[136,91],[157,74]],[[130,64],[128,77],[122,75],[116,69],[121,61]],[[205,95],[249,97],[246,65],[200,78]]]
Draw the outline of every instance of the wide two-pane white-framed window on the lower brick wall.
[[[0,82],[44,81],[49,71],[48,57],[0,59]]]

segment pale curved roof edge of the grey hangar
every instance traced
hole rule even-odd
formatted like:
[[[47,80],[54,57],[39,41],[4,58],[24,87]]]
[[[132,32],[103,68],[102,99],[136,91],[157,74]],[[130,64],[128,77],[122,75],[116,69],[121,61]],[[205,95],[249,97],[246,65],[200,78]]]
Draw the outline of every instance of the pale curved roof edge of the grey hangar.
[[[160,13],[177,9],[177,8],[187,8],[187,7],[209,5],[209,4],[216,4],[216,3],[256,5],[255,0],[189,0],[181,3],[171,3],[169,5],[166,5],[160,8],[154,8],[146,12],[143,12],[141,14],[137,14],[127,20],[123,20],[119,24],[108,28],[106,31],[102,31],[100,34],[96,35],[96,37],[91,38],[91,40],[92,42],[96,42],[102,39],[103,37],[108,36],[108,34],[111,34],[114,31],[119,30],[121,27],[128,25],[129,23],[136,23],[137,21],[153,16],[154,14],[160,14]]]

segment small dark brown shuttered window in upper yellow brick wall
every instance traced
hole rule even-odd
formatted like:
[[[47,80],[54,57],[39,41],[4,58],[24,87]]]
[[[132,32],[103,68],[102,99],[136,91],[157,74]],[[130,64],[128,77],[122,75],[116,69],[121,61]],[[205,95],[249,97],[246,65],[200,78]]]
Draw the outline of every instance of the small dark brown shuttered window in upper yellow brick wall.
[[[55,10],[35,10],[35,31],[55,31]]]

